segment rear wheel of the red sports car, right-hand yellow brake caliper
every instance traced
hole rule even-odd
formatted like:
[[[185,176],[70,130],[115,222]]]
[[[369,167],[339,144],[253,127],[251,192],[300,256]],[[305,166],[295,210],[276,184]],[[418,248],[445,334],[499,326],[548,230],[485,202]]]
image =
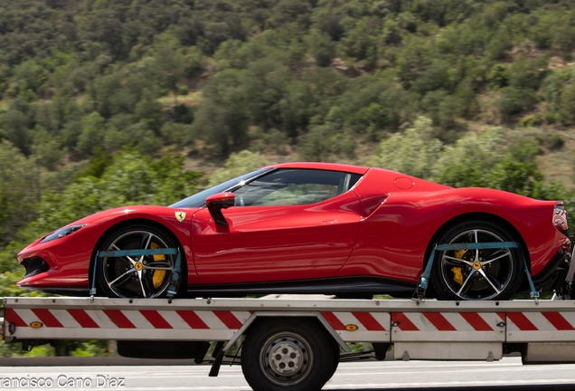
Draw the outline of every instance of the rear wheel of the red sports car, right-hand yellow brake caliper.
[[[500,224],[474,220],[455,224],[438,244],[515,241]],[[438,251],[431,281],[439,300],[509,300],[522,276],[519,249]]]

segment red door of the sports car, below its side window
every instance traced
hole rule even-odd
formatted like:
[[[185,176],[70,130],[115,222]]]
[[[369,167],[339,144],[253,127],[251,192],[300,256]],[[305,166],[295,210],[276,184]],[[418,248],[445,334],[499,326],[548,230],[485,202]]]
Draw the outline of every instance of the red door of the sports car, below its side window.
[[[297,176],[297,173],[293,173],[296,170],[291,171],[287,174]],[[290,182],[289,186],[285,186],[285,183],[278,186],[282,194],[286,193],[286,189],[293,188],[298,191],[291,194],[301,196],[299,190],[302,186],[314,186],[292,183],[301,182],[301,176],[296,179],[274,179],[272,176],[269,176],[268,185]],[[315,179],[305,180],[309,182]],[[359,197],[348,189],[343,190],[342,194],[306,205],[273,205],[278,203],[278,199],[280,203],[288,204],[291,198],[275,196],[277,193],[269,189],[266,190],[267,196],[256,198],[269,200],[270,196],[274,196],[271,202],[263,203],[272,205],[259,205],[261,201],[253,200],[243,205],[244,199],[251,195],[244,193],[243,196],[236,196],[236,206],[223,210],[228,225],[216,224],[206,208],[198,211],[193,216],[192,247],[200,282],[213,284],[333,277],[353,249],[360,221]]]

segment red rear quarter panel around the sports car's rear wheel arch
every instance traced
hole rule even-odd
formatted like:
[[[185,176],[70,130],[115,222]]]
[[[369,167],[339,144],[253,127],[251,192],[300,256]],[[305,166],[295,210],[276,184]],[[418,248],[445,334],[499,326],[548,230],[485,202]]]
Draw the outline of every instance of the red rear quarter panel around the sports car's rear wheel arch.
[[[416,282],[433,235],[457,216],[477,213],[501,217],[514,226],[529,249],[531,272],[535,275],[559,248],[567,246],[569,251],[569,239],[552,225],[550,215],[555,202],[533,204],[533,199],[508,195],[478,188],[429,195],[391,195],[362,221],[353,253],[337,275],[382,275],[384,272],[391,279]],[[446,208],[446,201],[453,205]]]

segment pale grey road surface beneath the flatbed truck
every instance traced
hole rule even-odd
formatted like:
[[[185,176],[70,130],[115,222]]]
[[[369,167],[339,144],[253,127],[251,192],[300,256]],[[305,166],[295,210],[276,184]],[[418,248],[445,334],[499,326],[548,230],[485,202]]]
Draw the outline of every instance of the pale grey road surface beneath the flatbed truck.
[[[0,389],[25,386],[35,378],[52,381],[49,389],[120,388],[141,391],[248,391],[241,368],[223,367],[219,377],[208,377],[208,366],[118,367],[0,367]],[[6,386],[10,379],[11,386]],[[14,388],[14,379],[24,386]],[[466,391],[575,390],[575,365],[522,366],[520,358],[487,362],[383,361],[341,363],[325,390],[426,390]]]

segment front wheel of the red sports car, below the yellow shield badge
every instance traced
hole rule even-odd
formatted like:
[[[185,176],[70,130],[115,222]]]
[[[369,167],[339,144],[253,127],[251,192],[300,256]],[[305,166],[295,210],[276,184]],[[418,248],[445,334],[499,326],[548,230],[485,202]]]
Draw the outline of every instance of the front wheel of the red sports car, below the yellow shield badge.
[[[108,236],[99,251],[176,248],[171,235],[151,225],[138,224],[118,229]],[[160,298],[172,278],[176,255],[99,258],[96,279],[111,298]],[[184,277],[184,264],[182,273]]]

